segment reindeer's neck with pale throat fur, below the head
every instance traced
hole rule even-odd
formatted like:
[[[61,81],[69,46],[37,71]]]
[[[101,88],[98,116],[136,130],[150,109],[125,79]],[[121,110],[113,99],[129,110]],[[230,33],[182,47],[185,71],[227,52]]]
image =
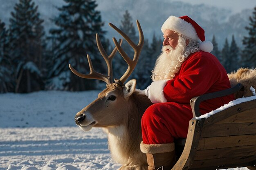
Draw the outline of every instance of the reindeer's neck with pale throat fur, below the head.
[[[104,128],[108,134],[108,146],[112,158],[121,164],[146,163],[146,156],[140,151],[141,117],[152,103],[147,96],[134,92],[127,101],[124,124]]]

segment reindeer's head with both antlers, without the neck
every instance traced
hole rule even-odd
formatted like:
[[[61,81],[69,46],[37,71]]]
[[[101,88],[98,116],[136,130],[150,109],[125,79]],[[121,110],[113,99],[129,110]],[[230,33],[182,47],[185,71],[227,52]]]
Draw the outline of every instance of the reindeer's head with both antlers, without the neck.
[[[132,79],[126,84],[124,84],[124,82],[126,79],[128,79],[138,62],[139,54],[144,43],[143,32],[139,21],[137,20],[137,27],[139,30],[139,43],[136,45],[124,32],[118,29],[115,25],[111,23],[109,25],[125,38],[130,46],[132,46],[135,53],[133,59],[131,60],[130,57],[128,57],[128,55],[121,48],[122,40],[117,42],[117,40],[113,38],[115,49],[110,55],[107,55],[106,51],[103,49],[99,35],[96,34],[98,49],[108,66],[108,75],[103,75],[94,71],[89,55],[87,55],[90,67],[90,73],[88,75],[79,73],[69,64],[71,71],[79,77],[88,79],[100,79],[107,83],[107,88],[99,93],[98,98],[83,108],[75,116],[76,124],[85,131],[90,130],[92,127],[119,126],[124,123],[128,110],[131,110],[129,106],[130,97],[135,91],[136,80]],[[115,82],[113,82],[112,58],[115,56],[117,50],[128,64],[128,68],[120,79],[115,79]]]

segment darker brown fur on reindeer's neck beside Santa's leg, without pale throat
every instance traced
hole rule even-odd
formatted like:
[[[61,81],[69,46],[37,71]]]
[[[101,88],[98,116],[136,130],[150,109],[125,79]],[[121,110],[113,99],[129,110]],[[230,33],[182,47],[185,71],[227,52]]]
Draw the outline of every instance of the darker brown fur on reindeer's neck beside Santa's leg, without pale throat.
[[[137,167],[123,166],[120,170],[147,170],[146,154],[142,153],[140,150],[140,143],[142,141],[141,117],[152,103],[147,96],[141,95],[136,91],[132,94],[130,101],[132,109],[129,112],[128,121],[125,125],[127,128],[127,138],[122,140],[124,143],[121,152],[128,157],[128,163],[136,165]]]

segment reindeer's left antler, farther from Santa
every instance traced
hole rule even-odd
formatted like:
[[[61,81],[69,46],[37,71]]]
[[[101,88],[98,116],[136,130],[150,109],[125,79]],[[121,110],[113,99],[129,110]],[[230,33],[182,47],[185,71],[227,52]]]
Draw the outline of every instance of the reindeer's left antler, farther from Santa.
[[[90,73],[89,74],[83,74],[83,73],[80,73],[80,72],[76,71],[71,66],[71,64],[69,64],[70,70],[75,75],[77,75],[77,76],[79,76],[81,78],[85,78],[85,79],[99,79],[99,80],[102,80],[102,81],[106,82],[107,84],[111,84],[111,83],[113,83],[113,81],[112,81],[112,79],[113,79],[112,59],[115,56],[115,54],[117,53],[117,47],[115,47],[115,49],[112,51],[112,53],[110,55],[107,55],[106,51],[104,50],[104,48],[103,48],[103,46],[101,44],[101,40],[99,38],[99,34],[96,34],[96,41],[97,41],[97,46],[98,46],[99,52],[101,53],[102,57],[104,58],[107,66],[108,66],[108,75],[103,75],[101,73],[98,73],[98,72],[94,71],[90,55],[87,55],[87,59],[88,59],[89,67],[90,67]],[[119,42],[117,44],[119,46],[121,46],[122,40],[119,39]]]

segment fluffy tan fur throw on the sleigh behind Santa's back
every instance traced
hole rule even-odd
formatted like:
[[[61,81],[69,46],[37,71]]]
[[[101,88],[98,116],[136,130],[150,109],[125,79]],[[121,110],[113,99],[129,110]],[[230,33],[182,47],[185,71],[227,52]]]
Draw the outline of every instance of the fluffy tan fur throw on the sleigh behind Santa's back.
[[[238,71],[228,74],[231,87],[238,83],[243,84],[244,91],[238,91],[234,94],[235,98],[252,96],[250,87],[256,88],[256,69],[239,68]]]

